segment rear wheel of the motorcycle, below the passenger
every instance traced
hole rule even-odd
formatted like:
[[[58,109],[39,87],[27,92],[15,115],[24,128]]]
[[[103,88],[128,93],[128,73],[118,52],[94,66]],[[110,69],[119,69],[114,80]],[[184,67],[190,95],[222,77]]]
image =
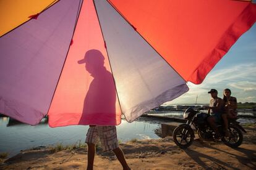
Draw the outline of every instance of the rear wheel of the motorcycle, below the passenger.
[[[222,142],[231,148],[239,147],[242,144],[242,140],[244,139],[240,129],[236,126],[229,126],[228,131],[229,137],[222,137]]]

